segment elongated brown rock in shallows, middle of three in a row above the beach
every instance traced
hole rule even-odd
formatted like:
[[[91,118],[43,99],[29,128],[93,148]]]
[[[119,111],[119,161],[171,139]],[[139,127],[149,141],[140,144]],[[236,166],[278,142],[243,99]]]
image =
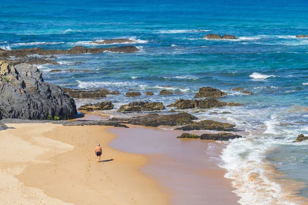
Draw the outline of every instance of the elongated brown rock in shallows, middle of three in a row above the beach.
[[[158,110],[164,110],[165,106],[162,103],[154,102],[132,102],[126,105],[122,105],[119,108],[119,112],[134,112],[134,111],[158,111]]]

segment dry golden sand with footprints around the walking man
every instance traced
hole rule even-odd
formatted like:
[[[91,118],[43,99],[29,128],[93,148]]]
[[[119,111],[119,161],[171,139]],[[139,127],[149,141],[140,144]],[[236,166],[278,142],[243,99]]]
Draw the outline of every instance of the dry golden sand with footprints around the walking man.
[[[107,127],[8,126],[16,129],[0,132],[0,204],[169,204],[139,171],[146,157],[110,148]]]

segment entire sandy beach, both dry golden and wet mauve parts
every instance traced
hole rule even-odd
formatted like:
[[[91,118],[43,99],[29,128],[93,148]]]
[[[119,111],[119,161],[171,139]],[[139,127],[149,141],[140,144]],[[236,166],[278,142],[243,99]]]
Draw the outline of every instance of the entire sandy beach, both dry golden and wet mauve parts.
[[[178,151],[169,142],[183,144],[183,140],[173,135],[162,140],[168,131],[54,124],[7,126],[15,129],[0,133],[0,204],[236,204],[238,200],[229,180],[223,178],[224,171],[210,163],[206,154],[187,164],[188,156],[197,155],[194,152],[183,158],[191,146],[185,149],[182,145],[183,155],[175,160],[172,153]],[[145,133],[148,138],[140,140]],[[156,135],[159,137],[153,144]],[[135,140],[139,143],[128,143]],[[188,144],[195,146],[195,142]],[[98,143],[103,148],[100,163],[94,155]],[[201,145],[207,148],[208,143]],[[160,147],[162,144],[167,147]],[[125,145],[133,150],[125,150]],[[171,152],[150,153],[153,145]],[[198,147],[196,150],[200,151]],[[179,161],[189,166],[183,167]]]

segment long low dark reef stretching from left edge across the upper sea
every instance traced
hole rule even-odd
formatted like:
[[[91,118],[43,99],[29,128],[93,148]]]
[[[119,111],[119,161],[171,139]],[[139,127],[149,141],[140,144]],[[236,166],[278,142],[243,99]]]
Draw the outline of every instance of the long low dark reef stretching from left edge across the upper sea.
[[[139,51],[136,46],[120,46],[112,48],[85,48],[83,46],[75,46],[69,50],[44,50],[41,48],[25,48],[5,50],[0,52],[0,56],[15,56],[26,57],[27,55],[63,55],[63,54],[83,54],[83,53],[103,53],[103,52],[117,52],[117,53],[133,53]]]

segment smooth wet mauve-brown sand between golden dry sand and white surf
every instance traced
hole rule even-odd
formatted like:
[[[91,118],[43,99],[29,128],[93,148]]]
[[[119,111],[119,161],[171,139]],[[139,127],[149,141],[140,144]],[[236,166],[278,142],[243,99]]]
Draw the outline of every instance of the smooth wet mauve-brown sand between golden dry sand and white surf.
[[[130,126],[108,131],[118,135],[109,144],[112,148],[146,155],[148,163],[141,171],[172,193],[172,204],[239,204],[231,181],[224,178],[225,170],[217,167],[222,144],[177,139],[181,131],[158,128]]]

